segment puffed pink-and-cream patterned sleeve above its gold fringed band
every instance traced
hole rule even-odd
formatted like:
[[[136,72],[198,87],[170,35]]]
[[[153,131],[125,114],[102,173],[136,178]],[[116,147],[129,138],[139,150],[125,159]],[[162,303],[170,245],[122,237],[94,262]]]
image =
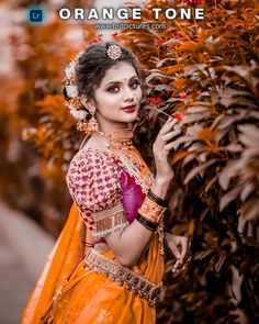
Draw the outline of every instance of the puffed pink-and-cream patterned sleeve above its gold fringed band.
[[[114,156],[85,147],[72,159],[66,180],[78,206],[98,211],[117,201],[122,190],[121,171]]]

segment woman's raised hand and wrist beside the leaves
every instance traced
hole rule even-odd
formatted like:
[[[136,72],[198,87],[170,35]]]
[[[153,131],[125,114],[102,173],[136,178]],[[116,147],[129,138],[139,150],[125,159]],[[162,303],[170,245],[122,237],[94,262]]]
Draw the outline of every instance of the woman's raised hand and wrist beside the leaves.
[[[170,148],[167,141],[173,138],[181,133],[177,126],[178,121],[169,118],[166,124],[159,131],[157,138],[153,145],[153,153],[156,163],[156,179],[161,181],[169,181],[173,178],[173,170],[168,161],[168,154]]]

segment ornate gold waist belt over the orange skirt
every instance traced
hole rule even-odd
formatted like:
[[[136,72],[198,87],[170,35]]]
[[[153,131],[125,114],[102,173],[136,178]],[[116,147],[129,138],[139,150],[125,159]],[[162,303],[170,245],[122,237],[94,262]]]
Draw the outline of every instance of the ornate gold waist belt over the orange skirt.
[[[132,290],[135,295],[145,299],[149,306],[156,305],[162,290],[162,282],[154,284],[132,270],[104,257],[93,248],[90,249],[85,261],[97,273],[102,273],[106,278],[109,277],[112,281],[116,281],[119,286],[125,284],[127,290]]]

